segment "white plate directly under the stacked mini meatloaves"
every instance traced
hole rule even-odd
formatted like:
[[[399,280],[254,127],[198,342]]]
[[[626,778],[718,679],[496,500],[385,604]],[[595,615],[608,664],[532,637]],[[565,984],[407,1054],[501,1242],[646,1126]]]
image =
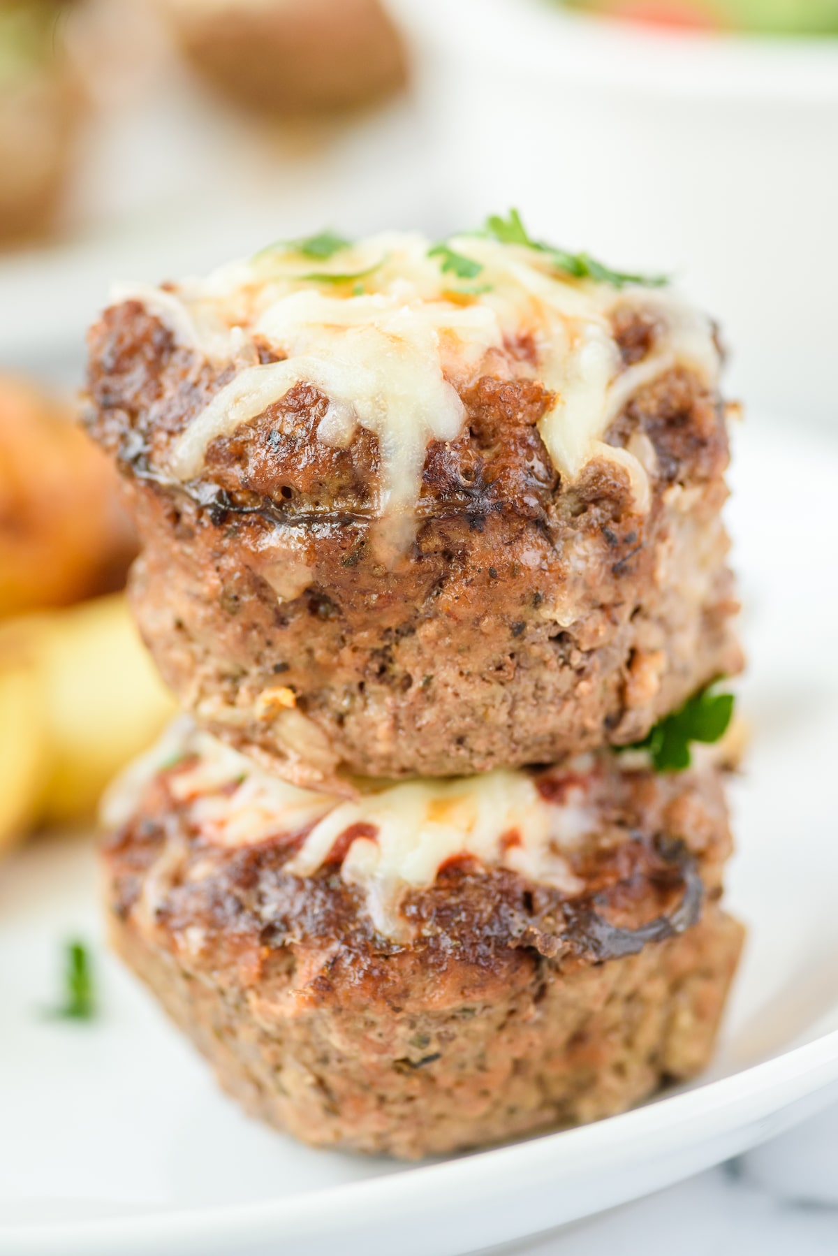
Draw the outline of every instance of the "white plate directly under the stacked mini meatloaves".
[[[55,839],[0,870],[5,1256],[455,1256],[663,1187],[838,1093],[838,450],[759,421],[739,445],[755,739],[730,902],[750,942],[711,1071],[623,1117],[431,1166],[310,1150],[217,1093],[98,946],[102,1019],[43,1019],[63,939],[98,938],[89,844]]]

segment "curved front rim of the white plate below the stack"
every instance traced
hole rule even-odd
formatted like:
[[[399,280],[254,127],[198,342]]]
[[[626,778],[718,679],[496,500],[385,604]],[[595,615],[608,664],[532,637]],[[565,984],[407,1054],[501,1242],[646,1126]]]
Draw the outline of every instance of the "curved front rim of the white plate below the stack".
[[[297,1241],[307,1237],[323,1240],[330,1233],[337,1240],[338,1231],[348,1241],[353,1222],[368,1226],[373,1210],[378,1216],[405,1216],[418,1206],[426,1216],[433,1212],[440,1215],[450,1207],[446,1199],[452,1191],[460,1198],[472,1196],[485,1199],[490,1192],[503,1193],[505,1183],[521,1176],[530,1184],[539,1179],[554,1182],[562,1163],[570,1158],[579,1166],[596,1157],[598,1168],[607,1172],[609,1162],[619,1161],[621,1153],[628,1148],[636,1150],[638,1144],[653,1140],[656,1134],[668,1128],[687,1127],[688,1142],[697,1143],[702,1134],[712,1137],[714,1130],[753,1127],[769,1114],[781,1112],[834,1081],[838,1081],[838,1029],[725,1078],[663,1095],[641,1108],[589,1125],[557,1130],[441,1163],[418,1164],[402,1172],[303,1191],[281,1199],[214,1207],[160,1207],[84,1221],[0,1223],[0,1242],[4,1250],[33,1256],[68,1256],[77,1251],[85,1256],[113,1256],[116,1251],[126,1256],[144,1256],[155,1243],[165,1245],[162,1250],[166,1252],[187,1253],[202,1250],[196,1248],[196,1243],[206,1243],[210,1252],[219,1251],[219,1243],[227,1240],[271,1242],[279,1236]],[[766,1099],[770,1099],[768,1104]],[[719,1114],[731,1108],[737,1113],[735,1122],[722,1122],[720,1127]],[[758,1137],[748,1143],[749,1147],[760,1140],[760,1133],[769,1137],[773,1130],[758,1129]],[[672,1178],[677,1179],[677,1176]],[[440,1189],[435,1191],[437,1187]],[[575,1216],[578,1220],[587,1215],[590,1210],[583,1207]]]

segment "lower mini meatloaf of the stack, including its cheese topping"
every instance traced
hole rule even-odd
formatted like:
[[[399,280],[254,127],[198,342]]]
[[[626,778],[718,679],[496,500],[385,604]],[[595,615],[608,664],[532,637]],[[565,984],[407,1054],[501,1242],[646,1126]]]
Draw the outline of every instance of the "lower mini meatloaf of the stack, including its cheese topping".
[[[421,1157],[707,1063],[743,936],[717,769],[599,751],[347,803],[180,747],[111,799],[111,933],[253,1114]]]

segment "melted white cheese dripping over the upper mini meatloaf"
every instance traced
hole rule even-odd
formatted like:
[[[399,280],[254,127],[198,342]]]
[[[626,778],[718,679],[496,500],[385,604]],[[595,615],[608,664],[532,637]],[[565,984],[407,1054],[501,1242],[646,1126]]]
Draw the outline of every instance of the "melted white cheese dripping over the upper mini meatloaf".
[[[280,246],[175,290],[123,289],[122,299],[143,301],[180,343],[239,367],[175,445],[172,477],[200,476],[211,441],[309,383],[328,398],[319,441],[346,447],[359,426],[378,437],[376,514],[396,520],[398,533],[400,519],[412,520],[428,442],[462,430],[456,386],[477,378],[490,350],[526,338],[535,360],[508,369],[554,393],[539,431],[557,470],[574,479],[590,458],[608,457],[643,509],[643,463],[602,437],[638,388],[677,364],[716,383],[710,322],[670,293],[563,276],[549,255],[520,245],[457,236],[450,246],[481,268],[475,281],[442,271],[422,236],[386,234],[319,264]],[[609,319],[618,305],[651,314],[657,327],[650,355],[628,368]],[[283,360],[258,364],[254,337]]]

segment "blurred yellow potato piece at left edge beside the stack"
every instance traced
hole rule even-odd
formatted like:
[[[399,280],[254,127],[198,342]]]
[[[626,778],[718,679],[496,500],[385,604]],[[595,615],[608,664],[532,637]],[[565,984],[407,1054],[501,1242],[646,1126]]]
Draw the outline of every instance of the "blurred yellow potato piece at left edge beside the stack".
[[[0,624],[0,848],[92,815],[173,713],[122,594]]]

